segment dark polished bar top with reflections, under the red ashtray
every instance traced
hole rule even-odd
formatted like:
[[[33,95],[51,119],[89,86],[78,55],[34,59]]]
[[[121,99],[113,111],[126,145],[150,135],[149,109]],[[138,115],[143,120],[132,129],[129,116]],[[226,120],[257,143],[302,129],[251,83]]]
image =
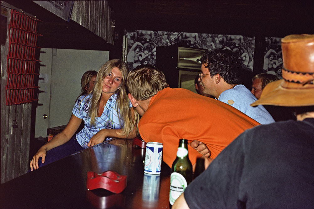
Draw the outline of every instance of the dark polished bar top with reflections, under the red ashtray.
[[[145,149],[112,139],[0,185],[1,208],[169,208],[170,168],[144,175]],[[119,194],[86,189],[87,171],[127,175]]]

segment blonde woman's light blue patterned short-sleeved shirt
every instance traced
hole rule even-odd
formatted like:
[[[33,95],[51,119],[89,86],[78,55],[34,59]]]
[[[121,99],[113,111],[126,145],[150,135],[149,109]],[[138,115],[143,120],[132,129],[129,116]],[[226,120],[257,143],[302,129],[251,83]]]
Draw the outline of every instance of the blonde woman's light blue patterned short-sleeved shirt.
[[[73,107],[73,115],[78,118],[82,118],[85,125],[84,128],[76,134],[76,139],[78,143],[87,148],[87,144],[101,129],[109,128],[109,129],[119,129],[123,128],[124,122],[123,118],[121,118],[120,114],[117,112],[117,95],[113,94],[107,101],[106,106],[104,108],[103,113],[100,117],[96,117],[95,126],[90,125],[90,117],[89,117],[89,105],[91,101],[92,95],[83,95],[78,98]],[[132,107],[131,102],[129,103],[130,107]],[[109,140],[110,138],[106,138]]]

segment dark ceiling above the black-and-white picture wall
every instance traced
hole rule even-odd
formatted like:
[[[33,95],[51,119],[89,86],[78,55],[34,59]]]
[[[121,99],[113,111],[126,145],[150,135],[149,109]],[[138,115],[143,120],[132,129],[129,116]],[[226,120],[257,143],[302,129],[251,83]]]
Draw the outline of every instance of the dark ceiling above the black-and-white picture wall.
[[[264,35],[314,33],[313,1],[109,1],[118,25],[132,30]]]

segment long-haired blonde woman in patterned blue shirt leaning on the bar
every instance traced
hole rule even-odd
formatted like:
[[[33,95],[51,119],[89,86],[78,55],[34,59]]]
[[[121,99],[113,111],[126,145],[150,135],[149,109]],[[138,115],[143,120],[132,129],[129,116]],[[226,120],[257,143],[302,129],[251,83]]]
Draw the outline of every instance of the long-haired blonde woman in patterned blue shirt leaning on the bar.
[[[121,60],[109,60],[100,68],[94,90],[78,98],[68,125],[37,151],[30,170],[110,138],[136,136],[139,116],[125,90],[128,71]],[[73,135],[82,120],[84,128]]]

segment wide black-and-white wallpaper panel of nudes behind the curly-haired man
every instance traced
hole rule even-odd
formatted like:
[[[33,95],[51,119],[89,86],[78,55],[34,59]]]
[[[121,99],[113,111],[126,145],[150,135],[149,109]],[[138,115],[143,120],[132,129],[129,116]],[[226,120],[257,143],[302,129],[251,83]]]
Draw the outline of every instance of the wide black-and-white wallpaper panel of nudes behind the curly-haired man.
[[[125,31],[125,36],[126,60],[131,70],[138,65],[154,65],[157,46],[178,44],[207,50],[222,47],[230,49],[239,54],[243,67],[253,71],[255,37],[149,30]]]

